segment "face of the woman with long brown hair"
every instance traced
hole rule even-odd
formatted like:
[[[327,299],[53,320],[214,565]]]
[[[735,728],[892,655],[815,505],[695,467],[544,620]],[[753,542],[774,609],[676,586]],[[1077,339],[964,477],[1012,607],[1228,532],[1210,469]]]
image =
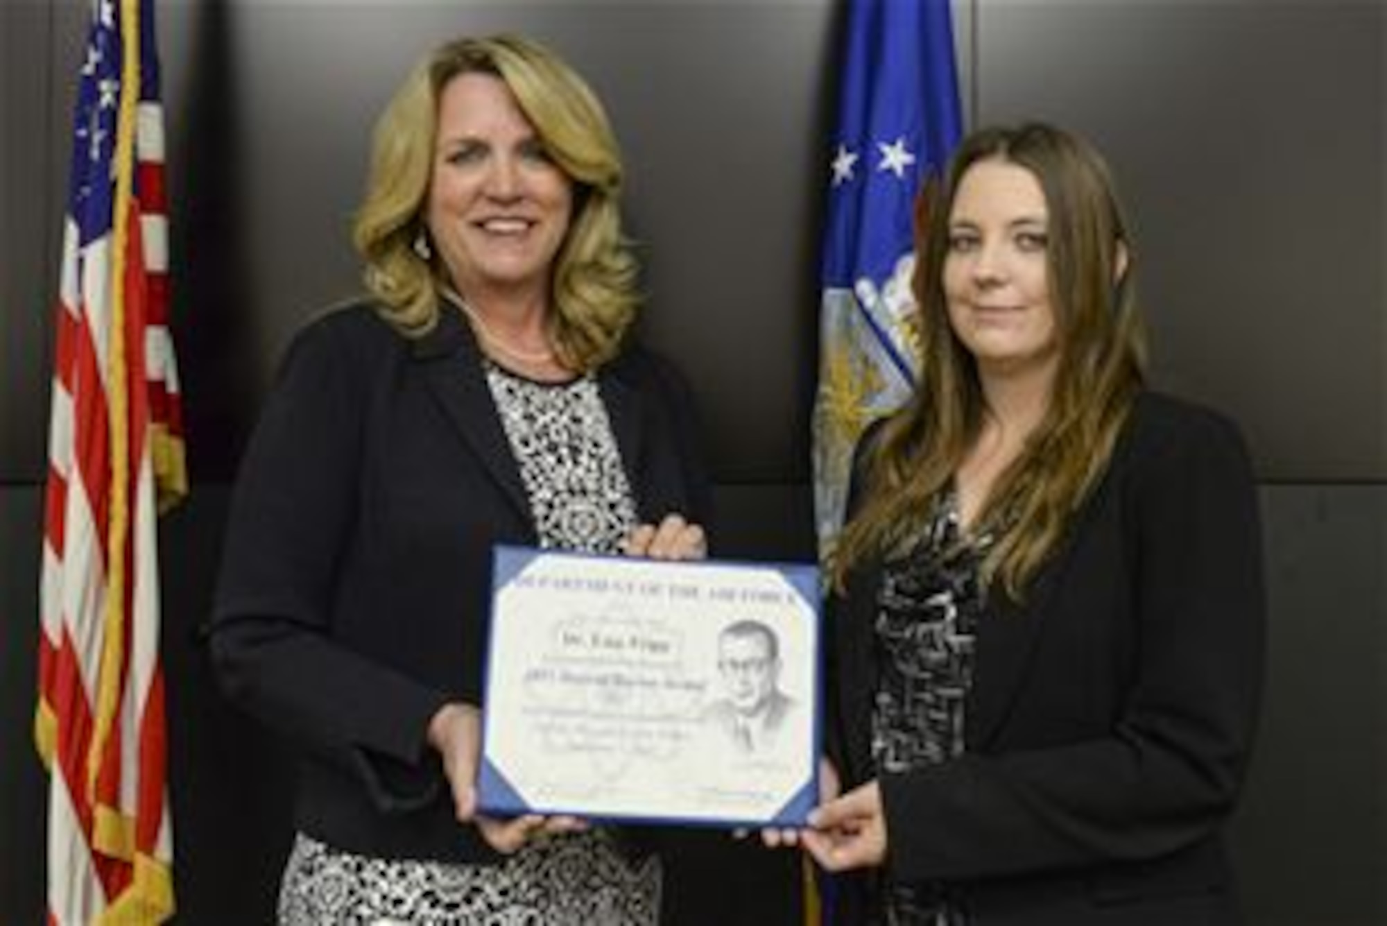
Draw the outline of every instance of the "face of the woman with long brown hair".
[[[949,216],[943,290],[949,324],[979,373],[1054,369],[1047,251],[1049,211],[1035,175],[996,158],[970,166]]]

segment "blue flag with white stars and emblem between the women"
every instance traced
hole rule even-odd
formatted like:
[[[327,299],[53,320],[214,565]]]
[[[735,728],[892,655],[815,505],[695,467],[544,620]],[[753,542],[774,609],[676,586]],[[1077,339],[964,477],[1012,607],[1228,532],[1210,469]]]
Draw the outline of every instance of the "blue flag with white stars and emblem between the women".
[[[849,0],[839,79],[814,408],[821,556],[842,527],[857,438],[915,383],[911,212],[963,126],[949,0]]]

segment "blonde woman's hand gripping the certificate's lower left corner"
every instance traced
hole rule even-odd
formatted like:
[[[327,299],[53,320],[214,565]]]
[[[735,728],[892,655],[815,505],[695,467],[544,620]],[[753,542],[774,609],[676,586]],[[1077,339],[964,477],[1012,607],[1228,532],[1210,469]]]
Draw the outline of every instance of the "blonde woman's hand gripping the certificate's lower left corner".
[[[458,822],[476,823],[481,837],[498,853],[509,855],[535,837],[587,828],[584,821],[574,816],[526,814],[513,819],[492,819],[477,814],[481,714],[476,707],[458,701],[440,707],[429,721],[429,744],[442,757]]]

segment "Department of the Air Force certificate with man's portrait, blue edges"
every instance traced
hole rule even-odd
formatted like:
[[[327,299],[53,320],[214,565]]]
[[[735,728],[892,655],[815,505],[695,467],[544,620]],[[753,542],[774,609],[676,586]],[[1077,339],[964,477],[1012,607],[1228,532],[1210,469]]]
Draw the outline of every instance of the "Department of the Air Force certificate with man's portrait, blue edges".
[[[813,566],[498,546],[479,807],[803,825],[818,615]]]

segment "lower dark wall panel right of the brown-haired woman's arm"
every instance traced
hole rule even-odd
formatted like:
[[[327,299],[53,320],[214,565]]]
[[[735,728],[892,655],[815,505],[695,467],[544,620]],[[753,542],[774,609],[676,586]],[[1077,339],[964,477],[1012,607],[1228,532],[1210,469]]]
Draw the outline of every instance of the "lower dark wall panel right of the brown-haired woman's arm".
[[[1387,922],[1387,489],[1262,489],[1270,647],[1233,844],[1254,926]]]

